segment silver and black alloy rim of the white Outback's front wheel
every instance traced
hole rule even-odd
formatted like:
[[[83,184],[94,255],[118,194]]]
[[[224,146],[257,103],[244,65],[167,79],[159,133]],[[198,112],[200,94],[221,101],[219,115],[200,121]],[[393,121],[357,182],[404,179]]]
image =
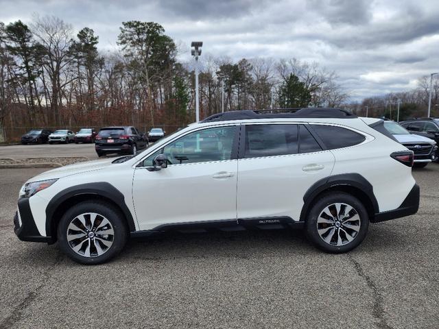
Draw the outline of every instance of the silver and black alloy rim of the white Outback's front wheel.
[[[67,243],[80,256],[101,256],[110,249],[114,239],[110,221],[95,212],[78,215],[67,227]]]

